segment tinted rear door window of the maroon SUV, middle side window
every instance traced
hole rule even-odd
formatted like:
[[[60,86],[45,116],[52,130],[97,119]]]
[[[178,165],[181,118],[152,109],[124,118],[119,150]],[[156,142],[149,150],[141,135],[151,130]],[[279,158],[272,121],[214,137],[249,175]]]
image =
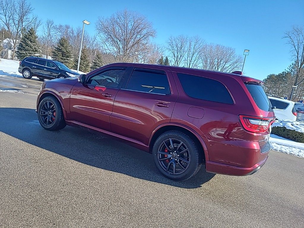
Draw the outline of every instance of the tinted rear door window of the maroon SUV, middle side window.
[[[168,78],[164,71],[143,68],[134,69],[126,89],[165,95],[170,94]]]

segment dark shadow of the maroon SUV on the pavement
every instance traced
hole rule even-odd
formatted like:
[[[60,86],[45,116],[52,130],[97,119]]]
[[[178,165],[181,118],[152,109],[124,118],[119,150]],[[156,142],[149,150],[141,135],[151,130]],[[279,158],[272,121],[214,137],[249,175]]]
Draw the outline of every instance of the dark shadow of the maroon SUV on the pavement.
[[[70,126],[44,130],[34,109],[0,108],[0,131],[83,164],[180,188],[199,188],[215,176],[202,167],[189,180],[171,181],[159,174],[151,154]]]

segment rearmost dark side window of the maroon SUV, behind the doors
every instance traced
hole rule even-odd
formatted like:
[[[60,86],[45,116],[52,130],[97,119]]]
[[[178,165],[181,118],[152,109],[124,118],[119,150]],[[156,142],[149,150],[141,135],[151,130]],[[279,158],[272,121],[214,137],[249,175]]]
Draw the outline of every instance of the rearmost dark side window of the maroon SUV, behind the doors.
[[[185,93],[189,97],[233,104],[233,99],[223,83],[201,76],[177,73]]]

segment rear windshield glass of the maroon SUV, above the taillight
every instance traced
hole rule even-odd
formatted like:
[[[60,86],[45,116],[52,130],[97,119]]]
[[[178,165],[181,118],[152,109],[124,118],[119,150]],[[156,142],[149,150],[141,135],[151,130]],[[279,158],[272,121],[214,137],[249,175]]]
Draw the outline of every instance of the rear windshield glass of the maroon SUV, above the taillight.
[[[272,106],[262,86],[257,83],[248,83],[245,85],[250,95],[254,99],[254,102],[257,104],[257,107],[264,111],[270,112]]]

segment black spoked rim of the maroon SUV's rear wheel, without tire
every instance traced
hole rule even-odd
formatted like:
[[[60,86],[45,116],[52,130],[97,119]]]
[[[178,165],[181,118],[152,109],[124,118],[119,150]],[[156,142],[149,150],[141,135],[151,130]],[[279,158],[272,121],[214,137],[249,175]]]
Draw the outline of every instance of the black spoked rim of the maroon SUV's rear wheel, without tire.
[[[179,175],[188,169],[191,157],[185,143],[176,138],[168,138],[159,145],[157,160],[168,174]]]

